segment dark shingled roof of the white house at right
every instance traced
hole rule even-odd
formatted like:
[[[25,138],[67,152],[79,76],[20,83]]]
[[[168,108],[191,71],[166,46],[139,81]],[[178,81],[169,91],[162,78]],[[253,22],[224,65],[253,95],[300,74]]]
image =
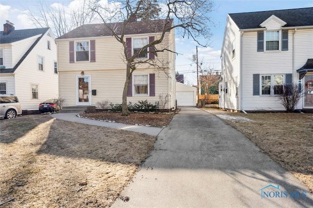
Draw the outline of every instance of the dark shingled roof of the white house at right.
[[[284,27],[313,25],[313,7],[229,14],[239,29],[259,28],[272,15],[287,22]]]

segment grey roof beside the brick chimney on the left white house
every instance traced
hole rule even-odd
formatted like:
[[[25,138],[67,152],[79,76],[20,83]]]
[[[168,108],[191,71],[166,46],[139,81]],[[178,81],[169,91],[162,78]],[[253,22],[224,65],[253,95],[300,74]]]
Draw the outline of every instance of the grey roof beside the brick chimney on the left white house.
[[[0,32],[0,44],[12,43],[21,41],[26,38],[30,38],[36,35],[45,34],[49,28],[35,28],[25,30],[13,30],[7,35],[3,35],[3,31]]]

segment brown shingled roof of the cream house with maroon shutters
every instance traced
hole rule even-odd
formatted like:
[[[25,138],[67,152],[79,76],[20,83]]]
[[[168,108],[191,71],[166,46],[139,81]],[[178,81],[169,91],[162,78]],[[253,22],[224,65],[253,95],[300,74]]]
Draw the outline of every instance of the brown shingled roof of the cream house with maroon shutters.
[[[167,21],[168,20],[129,22],[126,26],[125,35],[158,33],[163,30],[164,25],[166,27],[172,26],[173,19],[171,19],[168,22]],[[102,24],[85,24],[80,27],[77,27],[76,29],[72,31],[69,31],[68,33],[57,38],[56,40],[68,39],[68,38],[112,36],[112,31],[109,28],[114,28],[115,33],[120,35],[122,26],[123,26],[123,22],[107,23],[107,26],[103,23]]]

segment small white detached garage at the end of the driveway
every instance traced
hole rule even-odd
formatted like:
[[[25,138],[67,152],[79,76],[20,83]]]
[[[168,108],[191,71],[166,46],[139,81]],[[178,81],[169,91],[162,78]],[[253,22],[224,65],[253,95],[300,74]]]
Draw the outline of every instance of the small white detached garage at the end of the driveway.
[[[176,82],[176,100],[178,106],[196,106],[197,88]]]

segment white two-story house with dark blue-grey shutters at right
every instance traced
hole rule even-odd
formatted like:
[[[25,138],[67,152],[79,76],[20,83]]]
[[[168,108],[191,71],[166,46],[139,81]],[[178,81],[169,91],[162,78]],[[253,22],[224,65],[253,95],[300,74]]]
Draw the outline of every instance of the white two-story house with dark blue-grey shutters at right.
[[[313,108],[313,7],[228,14],[221,57],[221,108],[285,110],[288,83],[305,92],[297,109]]]

